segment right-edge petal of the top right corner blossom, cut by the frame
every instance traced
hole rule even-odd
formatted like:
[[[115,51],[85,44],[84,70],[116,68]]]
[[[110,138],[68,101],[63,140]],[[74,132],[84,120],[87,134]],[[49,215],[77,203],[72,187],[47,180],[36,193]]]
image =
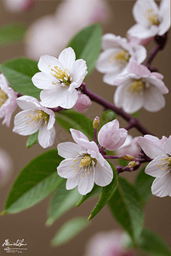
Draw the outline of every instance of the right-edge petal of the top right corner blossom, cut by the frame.
[[[165,32],[168,31],[170,27],[170,1],[169,0],[162,0],[160,3],[159,9],[159,17],[161,19],[161,23],[158,27],[158,35],[162,36]]]

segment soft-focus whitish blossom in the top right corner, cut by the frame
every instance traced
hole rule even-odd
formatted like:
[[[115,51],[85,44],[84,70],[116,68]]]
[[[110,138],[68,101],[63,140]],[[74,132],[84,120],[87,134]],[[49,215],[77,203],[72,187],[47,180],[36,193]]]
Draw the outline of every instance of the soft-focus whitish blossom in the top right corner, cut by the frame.
[[[162,36],[170,27],[170,1],[162,0],[158,8],[154,0],[137,0],[133,15],[137,24],[128,30],[129,36],[139,39]]]

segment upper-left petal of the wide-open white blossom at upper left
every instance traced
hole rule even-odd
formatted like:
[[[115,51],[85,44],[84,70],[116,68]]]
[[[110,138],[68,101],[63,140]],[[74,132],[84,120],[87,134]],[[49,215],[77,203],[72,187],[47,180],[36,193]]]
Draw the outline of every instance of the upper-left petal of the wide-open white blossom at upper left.
[[[61,68],[62,70],[65,69],[62,63],[55,57],[49,55],[43,55],[40,57],[40,60],[38,61],[38,69],[40,71],[52,76],[51,73],[53,73],[53,71],[51,69],[54,69],[54,67]]]

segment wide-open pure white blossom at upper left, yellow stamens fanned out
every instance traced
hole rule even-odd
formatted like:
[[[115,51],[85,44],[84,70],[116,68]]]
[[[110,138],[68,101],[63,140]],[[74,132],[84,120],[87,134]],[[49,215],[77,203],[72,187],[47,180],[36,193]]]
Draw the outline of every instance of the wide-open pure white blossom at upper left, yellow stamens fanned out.
[[[72,108],[76,102],[78,88],[87,74],[86,62],[76,61],[71,47],[64,49],[59,58],[43,55],[38,62],[41,72],[32,77],[37,88],[43,89],[40,98],[44,107]]]

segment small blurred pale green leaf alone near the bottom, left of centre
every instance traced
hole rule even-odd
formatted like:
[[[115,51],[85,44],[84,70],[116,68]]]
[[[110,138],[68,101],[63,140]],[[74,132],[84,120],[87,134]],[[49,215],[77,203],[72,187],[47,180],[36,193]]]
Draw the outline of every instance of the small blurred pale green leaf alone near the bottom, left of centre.
[[[64,224],[60,230],[56,233],[51,245],[57,247],[70,241],[73,237],[77,236],[82,230],[84,230],[90,222],[87,218],[77,217],[72,218],[66,224]]]

